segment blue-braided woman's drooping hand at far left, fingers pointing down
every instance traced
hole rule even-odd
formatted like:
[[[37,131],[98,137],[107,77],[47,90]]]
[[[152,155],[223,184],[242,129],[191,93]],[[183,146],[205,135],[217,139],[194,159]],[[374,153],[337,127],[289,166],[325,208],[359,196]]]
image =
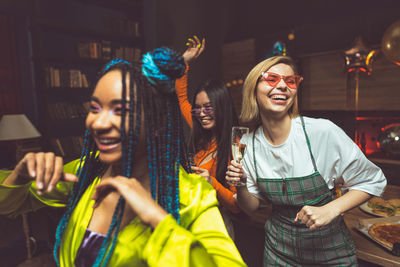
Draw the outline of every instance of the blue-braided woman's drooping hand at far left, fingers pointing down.
[[[37,192],[41,195],[51,192],[60,180],[76,182],[78,177],[63,172],[62,157],[52,152],[39,152],[26,154],[4,183],[18,185],[30,180],[36,181]]]

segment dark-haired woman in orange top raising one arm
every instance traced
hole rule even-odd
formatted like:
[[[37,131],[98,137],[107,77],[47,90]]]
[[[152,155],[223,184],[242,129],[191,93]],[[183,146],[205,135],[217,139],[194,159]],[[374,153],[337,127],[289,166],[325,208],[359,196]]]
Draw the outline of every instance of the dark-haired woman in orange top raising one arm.
[[[189,39],[188,48],[183,53],[187,65],[185,75],[176,80],[181,112],[191,127],[189,151],[195,154],[192,170],[203,176],[217,191],[220,210],[230,236],[233,238],[233,226],[228,209],[232,213],[240,212],[233,197],[236,189],[225,180],[226,168],[231,159],[231,131],[237,125],[237,117],[228,89],[222,81],[208,80],[195,91],[192,103],[187,97],[187,75],[189,63],[205,49],[197,36]]]

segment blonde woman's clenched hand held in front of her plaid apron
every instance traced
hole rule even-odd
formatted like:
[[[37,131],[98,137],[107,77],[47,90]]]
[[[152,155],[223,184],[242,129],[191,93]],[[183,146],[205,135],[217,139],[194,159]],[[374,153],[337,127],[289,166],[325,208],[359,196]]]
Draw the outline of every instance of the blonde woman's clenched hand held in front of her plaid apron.
[[[304,206],[296,215],[294,222],[301,221],[311,230],[329,224],[333,219],[339,216],[334,209],[329,207]]]

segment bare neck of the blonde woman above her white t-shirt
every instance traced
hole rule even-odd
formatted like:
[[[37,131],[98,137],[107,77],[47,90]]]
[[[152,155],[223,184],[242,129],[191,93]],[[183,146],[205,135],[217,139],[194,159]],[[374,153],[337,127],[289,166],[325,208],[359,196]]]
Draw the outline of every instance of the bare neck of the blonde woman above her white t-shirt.
[[[264,136],[270,144],[278,146],[286,141],[292,125],[289,114],[282,118],[261,116],[261,122]]]

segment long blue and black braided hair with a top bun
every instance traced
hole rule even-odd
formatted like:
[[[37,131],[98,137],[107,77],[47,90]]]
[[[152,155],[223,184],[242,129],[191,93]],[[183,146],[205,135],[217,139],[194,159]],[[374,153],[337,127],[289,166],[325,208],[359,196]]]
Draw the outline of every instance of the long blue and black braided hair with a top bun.
[[[174,80],[184,74],[183,58],[177,52],[163,47],[144,55],[143,64],[115,59],[103,68],[99,79],[112,70],[120,70],[122,73],[122,175],[129,178],[132,173],[141,116],[144,115],[151,194],[179,223],[179,166],[183,166],[187,172],[190,169],[179,105],[173,91]],[[128,75],[131,81],[129,90],[126,83]],[[126,116],[129,118],[128,130],[124,123]],[[79,181],[73,186],[66,211],[56,231],[53,254],[58,265],[61,240],[71,214],[88,186],[106,167],[98,159],[91,133],[86,131],[77,171]],[[120,197],[93,266],[107,265],[116,244],[124,207],[125,201]]]

